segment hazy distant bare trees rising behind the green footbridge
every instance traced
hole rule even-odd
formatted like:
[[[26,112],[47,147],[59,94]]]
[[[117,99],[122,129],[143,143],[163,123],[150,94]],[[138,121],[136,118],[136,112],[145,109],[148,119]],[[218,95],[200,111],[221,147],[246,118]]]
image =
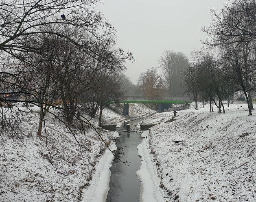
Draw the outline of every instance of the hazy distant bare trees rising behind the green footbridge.
[[[157,73],[157,68],[152,67],[139,76],[137,84],[143,95],[150,99],[157,96],[183,96],[183,75],[189,65],[188,57],[181,52],[166,50],[158,62],[162,74]]]

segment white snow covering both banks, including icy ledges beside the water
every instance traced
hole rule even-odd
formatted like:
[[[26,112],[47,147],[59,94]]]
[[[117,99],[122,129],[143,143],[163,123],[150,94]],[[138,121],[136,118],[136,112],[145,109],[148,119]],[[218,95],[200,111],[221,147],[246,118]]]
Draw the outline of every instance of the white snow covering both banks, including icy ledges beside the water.
[[[143,121],[158,125],[141,133],[147,138],[138,146],[141,201],[256,201],[256,116],[248,116],[246,103],[225,109],[226,114],[218,114],[216,107],[209,112],[205,105],[177,111],[173,122],[166,122],[173,112]],[[132,111],[142,115],[139,109]],[[66,126],[46,114],[48,148],[53,165],[63,175],[49,162],[45,134],[36,135],[38,118],[36,107],[33,113],[23,114],[20,139],[1,135],[0,201],[104,201],[113,155],[100,151],[103,146],[95,131],[77,130],[81,153]],[[106,122],[125,118],[107,108],[104,111]],[[92,122],[97,124],[96,119]],[[118,136],[102,132],[107,142]]]

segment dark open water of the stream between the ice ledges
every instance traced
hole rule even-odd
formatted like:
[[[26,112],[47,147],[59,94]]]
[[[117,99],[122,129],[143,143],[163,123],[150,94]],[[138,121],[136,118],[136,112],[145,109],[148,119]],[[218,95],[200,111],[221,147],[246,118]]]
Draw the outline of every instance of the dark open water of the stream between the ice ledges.
[[[131,129],[140,120],[130,121]],[[123,129],[123,125],[121,126]],[[117,141],[117,151],[122,161],[128,160],[129,166],[118,159],[114,159],[110,168],[111,177],[109,182],[109,192],[106,202],[139,202],[140,201],[140,181],[136,176],[136,171],[140,169],[140,157],[138,157],[137,146],[142,139],[139,132],[123,132]]]

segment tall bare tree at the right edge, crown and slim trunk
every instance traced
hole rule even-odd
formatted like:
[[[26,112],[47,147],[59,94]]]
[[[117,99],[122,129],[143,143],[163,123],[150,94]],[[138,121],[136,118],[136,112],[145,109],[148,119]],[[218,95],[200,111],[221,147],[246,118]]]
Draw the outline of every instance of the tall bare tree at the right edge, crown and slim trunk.
[[[219,14],[212,10],[212,24],[203,31],[211,37],[203,44],[219,48],[219,57],[226,63],[236,89],[244,92],[249,115],[252,115],[252,97],[256,92],[255,0],[233,0],[224,5]]]

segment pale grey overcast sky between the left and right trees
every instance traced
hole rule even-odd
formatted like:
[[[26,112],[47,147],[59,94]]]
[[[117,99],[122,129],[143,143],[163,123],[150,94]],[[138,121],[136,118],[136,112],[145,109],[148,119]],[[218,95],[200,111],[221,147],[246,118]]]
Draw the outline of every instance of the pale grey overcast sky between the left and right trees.
[[[131,51],[135,62],[127,62],[126,75],[136,84],[138,75],[158,67],[164,50],[190,52],[202,47],[207,36],[211,9],[220,12],[227,0],[102,0],[97,10],[117,29],[117,45]]]

